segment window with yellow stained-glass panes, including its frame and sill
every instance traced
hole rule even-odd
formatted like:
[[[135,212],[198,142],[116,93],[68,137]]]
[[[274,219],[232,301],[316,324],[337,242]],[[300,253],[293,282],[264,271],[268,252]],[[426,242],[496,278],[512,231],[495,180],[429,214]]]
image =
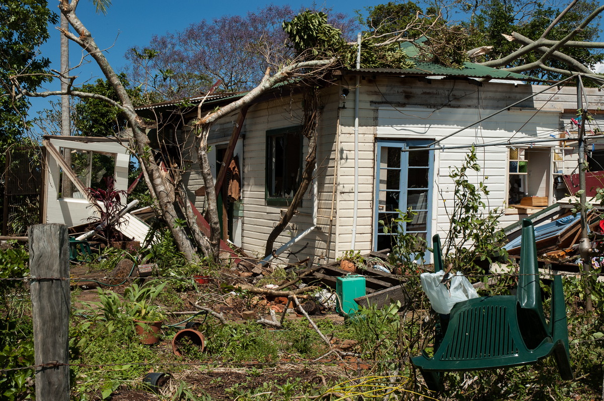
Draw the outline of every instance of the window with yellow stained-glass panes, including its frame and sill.
[[[506,214],[538,212],[527,207],[525,212],[510,207],[519,205],[524,197],[545,197],[551,204],[553,194],[552,147],[507,148]]]

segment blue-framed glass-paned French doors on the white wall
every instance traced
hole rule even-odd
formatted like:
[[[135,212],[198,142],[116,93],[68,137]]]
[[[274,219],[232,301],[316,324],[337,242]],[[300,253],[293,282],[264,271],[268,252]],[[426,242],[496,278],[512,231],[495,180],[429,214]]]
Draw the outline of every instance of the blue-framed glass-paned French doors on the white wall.
[[[434,151],[417,150],[433,141],[378,139],[376,145],[376,186],[374,200],[373,249],[391,248],[393,233],[384,233],[384,224],[430,241],[432,237],[432,190]],[[399,223],[396,209],[412,207],[417,214],[409,223]],[[382,223],[380,223],[382,222]],[[429,260],[426,253],[426,262]]]

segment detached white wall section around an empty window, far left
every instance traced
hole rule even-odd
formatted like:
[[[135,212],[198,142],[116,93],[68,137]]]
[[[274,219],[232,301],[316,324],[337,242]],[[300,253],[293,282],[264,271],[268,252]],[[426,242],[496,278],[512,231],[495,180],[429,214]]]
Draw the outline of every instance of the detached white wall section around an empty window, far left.
[[[68,148],[115,154],[115,190],[128,189],[128,163],[130,156],[127,148],[118,142],[78,142],[50,139],[50,143],[57,149]],[[88,218],[94,215],[94,207],[89,207],[86,199],[59,198],[60,169],[56,160],[50,154],[46,157],[48,168],[45,180],[46,186],[46,223],[62,223],[66,226],[77,226],[87,223]],[[86,184],[85,184],[86,185]]]

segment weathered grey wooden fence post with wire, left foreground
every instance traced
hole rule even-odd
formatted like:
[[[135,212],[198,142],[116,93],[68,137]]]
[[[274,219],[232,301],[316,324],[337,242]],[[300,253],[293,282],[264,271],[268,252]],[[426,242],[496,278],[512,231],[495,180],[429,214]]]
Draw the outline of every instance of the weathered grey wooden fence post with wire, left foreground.
[[[28,230],[36,400],[69,401],[69,247],[65,224]],[[39,277],[36,279],[35,277]]]

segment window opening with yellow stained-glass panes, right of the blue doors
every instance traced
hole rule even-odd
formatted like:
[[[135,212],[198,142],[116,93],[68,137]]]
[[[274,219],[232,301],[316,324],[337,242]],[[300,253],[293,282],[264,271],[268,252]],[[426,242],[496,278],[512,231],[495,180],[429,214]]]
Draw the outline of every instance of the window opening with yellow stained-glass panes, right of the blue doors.
[[[509,148],[509,205],[547,206],[551,188],[550,148]]]

